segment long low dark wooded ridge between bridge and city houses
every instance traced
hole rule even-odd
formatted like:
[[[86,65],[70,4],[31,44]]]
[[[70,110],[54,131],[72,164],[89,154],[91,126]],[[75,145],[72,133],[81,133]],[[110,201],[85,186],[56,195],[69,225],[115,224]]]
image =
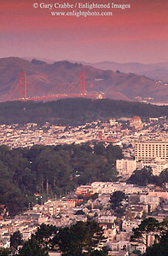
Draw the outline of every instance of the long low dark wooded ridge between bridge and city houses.
[[[0,124],[49,122],[55,125],[81,125],[96,119],[119,117],[141,118],[166,116],[168,106],[140,102],[94,100],[84,98],[61,99],[56,102],[1,102]]]

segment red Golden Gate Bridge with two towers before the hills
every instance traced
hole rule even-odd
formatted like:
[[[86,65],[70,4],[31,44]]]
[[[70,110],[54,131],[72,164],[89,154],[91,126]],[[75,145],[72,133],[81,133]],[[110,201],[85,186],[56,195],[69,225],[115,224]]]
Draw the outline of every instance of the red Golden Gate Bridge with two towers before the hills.
[[[38,89],[40,96],[27,96],[27,79],[26,79],[26,70],[21,71],[19,75],[14,80],[13,85],[9,91],[3,96],[5,101],[44,101],[48,99],[58,99],[58,98],[68,98],[68,97],[87,97],[87,98],[101,98],[100,93],[87,93],[85,90],[85,71],[79,72],[78,80],[78,93],[71,93],[71,90],[74,90],[76,83],[72,82],[68,85],[67,90],[61,94],[46,95],[41,89]],[[17,96],[16,96],[17,95]]]

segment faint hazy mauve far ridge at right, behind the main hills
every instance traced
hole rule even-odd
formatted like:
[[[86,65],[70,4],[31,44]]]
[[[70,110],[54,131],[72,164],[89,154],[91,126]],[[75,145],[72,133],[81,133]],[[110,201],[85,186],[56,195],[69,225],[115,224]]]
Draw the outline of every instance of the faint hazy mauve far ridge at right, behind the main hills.
[[[119,70],[124,73],[136,73],[147,76],[150,79],[162,80],[168,83],[168,62],[142,64],[136,62],[118,63],[113,61],[101,61],[96,63],[81,62],[84,65],[101,68],[102,70]]]

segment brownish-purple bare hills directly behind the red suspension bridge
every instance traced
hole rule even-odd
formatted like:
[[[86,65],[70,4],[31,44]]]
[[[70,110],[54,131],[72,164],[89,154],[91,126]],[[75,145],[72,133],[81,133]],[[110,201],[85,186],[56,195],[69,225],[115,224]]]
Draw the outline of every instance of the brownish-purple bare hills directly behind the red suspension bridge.
[[[134,73],[101,70],[69,61],[49,64],[35,59],[26,61],[9,57],[0,59],[0,100],[8,99],[4,96],[20,70],[26,70],[27,96],[64,93],[69,84],[73,85],[72,93],[78,93],[78,73],[84,70],[88,92],[103,92],[109,98],[127,101],[135,101],[136,97],[152,97],[155,102],[168,99],[168,87]],[[19,88],[14,91],[14,96],[19,97]]]

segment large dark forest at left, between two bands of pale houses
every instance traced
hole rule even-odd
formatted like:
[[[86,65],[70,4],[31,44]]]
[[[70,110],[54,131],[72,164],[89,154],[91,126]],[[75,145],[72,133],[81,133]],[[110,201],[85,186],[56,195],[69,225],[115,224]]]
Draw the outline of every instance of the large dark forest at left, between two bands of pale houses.
[[[80,184],[115,181],[114,164],[122,150],[109,144],[0,147],[0,202],[10,215],[22,212],[37,200],[60,196]],[[39,197],[34,195],[38,193]],[[42,197],[41,197],[42,196]]]

